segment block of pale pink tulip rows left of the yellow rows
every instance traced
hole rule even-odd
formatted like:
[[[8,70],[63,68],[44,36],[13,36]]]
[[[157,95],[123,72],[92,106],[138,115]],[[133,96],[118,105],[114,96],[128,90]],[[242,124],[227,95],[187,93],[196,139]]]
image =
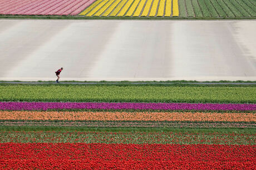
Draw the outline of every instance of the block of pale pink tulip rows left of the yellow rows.
[[[77,15],[96,0],[13,0],[1,2],[0,14]]]

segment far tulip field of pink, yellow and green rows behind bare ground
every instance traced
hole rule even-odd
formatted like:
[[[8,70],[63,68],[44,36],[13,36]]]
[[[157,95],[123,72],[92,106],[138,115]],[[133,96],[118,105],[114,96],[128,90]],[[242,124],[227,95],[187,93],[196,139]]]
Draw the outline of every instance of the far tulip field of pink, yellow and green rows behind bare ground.
[[[255,0],[12,0],[0,14],[83,17],[252,18]]]

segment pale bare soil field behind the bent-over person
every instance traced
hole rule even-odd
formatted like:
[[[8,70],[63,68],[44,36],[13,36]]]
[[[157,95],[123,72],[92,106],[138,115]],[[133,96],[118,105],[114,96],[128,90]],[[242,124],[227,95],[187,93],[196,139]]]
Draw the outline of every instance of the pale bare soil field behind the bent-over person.
[[[0,20],[0,80],[255,81],[256,21]]]

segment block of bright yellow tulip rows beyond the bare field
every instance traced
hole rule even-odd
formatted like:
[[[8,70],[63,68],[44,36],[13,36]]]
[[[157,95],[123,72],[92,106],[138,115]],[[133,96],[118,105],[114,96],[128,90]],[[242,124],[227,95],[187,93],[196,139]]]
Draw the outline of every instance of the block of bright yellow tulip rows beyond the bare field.
[[[179,4],[178,0],[96,0],[80,15],[87,17],[178,17]]]

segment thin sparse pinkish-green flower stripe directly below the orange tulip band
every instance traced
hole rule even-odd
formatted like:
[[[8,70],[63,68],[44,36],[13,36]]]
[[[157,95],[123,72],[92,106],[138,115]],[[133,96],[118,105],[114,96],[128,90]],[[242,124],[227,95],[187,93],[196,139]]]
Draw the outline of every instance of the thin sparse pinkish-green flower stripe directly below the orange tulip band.
[[[256,128],[256,123],[223,122],[96,122],[96,121],[0,121],[0,126],[87,128]]]

